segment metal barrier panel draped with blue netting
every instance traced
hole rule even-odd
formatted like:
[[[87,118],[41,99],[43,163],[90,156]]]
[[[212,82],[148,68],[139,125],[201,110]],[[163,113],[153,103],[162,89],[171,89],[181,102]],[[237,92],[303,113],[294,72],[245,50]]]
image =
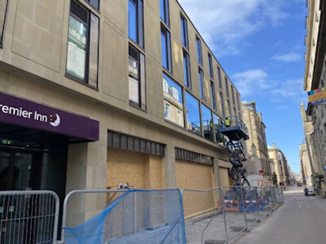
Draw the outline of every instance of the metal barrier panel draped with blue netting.
[[[73,191],[62,226],[66,243],[185,243],[178,189]]]

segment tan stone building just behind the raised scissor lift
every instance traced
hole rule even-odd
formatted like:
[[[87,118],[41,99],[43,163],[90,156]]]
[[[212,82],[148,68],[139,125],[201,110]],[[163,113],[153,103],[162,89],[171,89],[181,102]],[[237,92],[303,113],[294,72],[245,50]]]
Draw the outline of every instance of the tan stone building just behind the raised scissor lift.
[[[246,141],[248,158],[248,179],[252,185],[268,186],[270,184],[270,168],[266,143],[266,126],[260,112],[256,112],[255,101],[242,101],[243,122],[248,127],[249,140]]]

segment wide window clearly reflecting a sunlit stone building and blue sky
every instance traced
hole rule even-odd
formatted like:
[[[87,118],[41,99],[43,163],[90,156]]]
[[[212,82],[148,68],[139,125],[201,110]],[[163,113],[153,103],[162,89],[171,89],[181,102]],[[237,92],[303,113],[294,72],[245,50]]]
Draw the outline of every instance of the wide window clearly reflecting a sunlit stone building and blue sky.
[[[163,74],[165,119],[184,127],[182,88]]]

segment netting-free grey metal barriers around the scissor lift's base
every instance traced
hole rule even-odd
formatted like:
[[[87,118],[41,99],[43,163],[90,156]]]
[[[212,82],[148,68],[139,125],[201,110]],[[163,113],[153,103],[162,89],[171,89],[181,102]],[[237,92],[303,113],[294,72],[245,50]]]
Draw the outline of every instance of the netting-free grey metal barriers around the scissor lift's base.
[[[227,243],[283,204],[277,187],[181,191],[187,243]]]

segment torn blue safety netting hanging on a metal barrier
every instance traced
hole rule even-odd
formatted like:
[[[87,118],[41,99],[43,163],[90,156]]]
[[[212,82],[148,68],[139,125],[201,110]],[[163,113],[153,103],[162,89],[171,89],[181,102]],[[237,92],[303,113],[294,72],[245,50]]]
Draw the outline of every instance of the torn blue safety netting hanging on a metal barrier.
[[[129,190],[94,218],[64,228],[67,243],[186,243],[178,189]]]

